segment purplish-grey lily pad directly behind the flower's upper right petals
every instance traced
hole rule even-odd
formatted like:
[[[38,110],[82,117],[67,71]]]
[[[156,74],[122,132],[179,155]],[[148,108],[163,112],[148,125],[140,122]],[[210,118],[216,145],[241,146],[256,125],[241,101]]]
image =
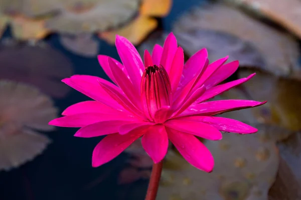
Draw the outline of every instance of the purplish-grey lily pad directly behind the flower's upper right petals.
[[[188,55],[199,49],[208,50],[209,60],[215,61],[229,55],[228,62],[239,60],[242,66],[264,66],[265,60],[250,42],[226,32],[206,29],[193,29],[177,33],[178,43]]]

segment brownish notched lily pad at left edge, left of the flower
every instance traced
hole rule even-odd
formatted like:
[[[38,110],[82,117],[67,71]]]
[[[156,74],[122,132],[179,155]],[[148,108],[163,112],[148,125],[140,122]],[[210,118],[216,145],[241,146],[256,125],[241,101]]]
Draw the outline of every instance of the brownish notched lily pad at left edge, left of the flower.
[[[57,117],[52,100],[27,84],[0,80],[0,170],[10,170],[41,154]]]

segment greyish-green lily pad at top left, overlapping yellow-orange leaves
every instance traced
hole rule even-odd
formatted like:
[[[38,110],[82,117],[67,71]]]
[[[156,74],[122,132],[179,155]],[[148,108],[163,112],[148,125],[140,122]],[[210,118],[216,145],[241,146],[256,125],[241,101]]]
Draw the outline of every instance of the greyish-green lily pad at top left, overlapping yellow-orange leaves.
[[[25,0],[25,13],[39,16],[59,12],[47,27],[60,33],[91,33],[116,28],[129,21],[139,0]]]

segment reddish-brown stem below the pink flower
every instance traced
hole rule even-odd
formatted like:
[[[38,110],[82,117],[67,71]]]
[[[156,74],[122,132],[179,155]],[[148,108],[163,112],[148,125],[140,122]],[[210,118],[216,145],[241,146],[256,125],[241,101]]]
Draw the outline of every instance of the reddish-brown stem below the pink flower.
[[[155,200],[159,188],[159,182],[162,172],[163,162],[154,163],[152,174],[150,175],[148,188],[145,196],[145,200]]]

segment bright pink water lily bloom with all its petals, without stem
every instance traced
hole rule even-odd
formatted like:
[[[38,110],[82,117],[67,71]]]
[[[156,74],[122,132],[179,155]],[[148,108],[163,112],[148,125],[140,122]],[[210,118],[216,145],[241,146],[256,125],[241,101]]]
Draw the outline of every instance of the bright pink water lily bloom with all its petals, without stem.
[[[184,52],[173,33],[164,47],[156,44],[153,54],[144,52],[144,64],[135,47],[116,36],[122,63],[106,55],[98,60],[115,83],[91,75],[73,75],[63,82],[94,101],[69,106],[49,124],[80,127],[78,137],[106,135],[94,148],[92,165],[102,165],[142,136],[142,146],[155,163],[166,155],[169,140],[193,166],[210,172],[214,159],[196,137],[219,140],[220,131],[254,133],[256,128],[240,121],[214,116],[222,112],[261,105],[253,100],[206,101],[255,74],[217,85],[237,68],[238,61],[224,64],[228,57],[209,63],[206,49],[184,64]]]

